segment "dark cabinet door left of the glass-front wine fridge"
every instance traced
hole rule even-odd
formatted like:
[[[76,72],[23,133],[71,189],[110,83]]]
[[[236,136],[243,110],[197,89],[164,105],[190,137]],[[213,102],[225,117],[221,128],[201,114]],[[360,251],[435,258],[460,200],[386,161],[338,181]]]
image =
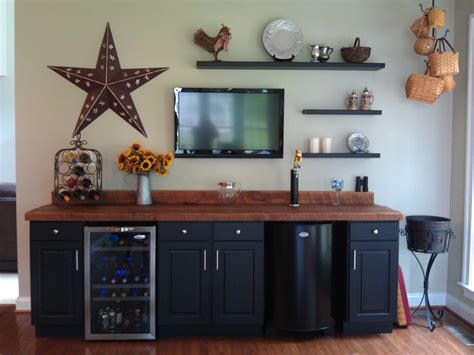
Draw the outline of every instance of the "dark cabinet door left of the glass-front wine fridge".
[[[83,243],[31,243],[31,313],[34,325],[82,325]]]

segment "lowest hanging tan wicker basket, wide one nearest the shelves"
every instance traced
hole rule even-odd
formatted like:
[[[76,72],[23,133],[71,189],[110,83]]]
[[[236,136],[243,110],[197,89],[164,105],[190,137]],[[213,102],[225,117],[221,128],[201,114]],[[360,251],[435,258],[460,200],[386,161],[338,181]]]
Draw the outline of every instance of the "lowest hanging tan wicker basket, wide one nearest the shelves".
[[[407,99],[432,104],[443,92],[444,80],[429,75],[412,74],[405,89]]]

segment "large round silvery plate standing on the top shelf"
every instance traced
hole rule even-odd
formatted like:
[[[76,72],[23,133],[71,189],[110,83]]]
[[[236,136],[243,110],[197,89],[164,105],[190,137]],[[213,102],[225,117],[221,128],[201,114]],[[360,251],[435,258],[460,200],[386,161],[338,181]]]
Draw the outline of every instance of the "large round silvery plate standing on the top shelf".
[[[277,59],[291,59],[303,48],[303,32],[285,19],[270,22],[263,31],[262,39],[267,52]]]

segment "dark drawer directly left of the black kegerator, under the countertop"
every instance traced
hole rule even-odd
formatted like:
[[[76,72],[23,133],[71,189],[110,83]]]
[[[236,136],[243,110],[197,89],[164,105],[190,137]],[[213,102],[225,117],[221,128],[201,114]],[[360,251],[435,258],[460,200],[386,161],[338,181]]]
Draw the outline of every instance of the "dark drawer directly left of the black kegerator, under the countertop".
[[[214,223],[214,240],[263,240],[263,223]]]

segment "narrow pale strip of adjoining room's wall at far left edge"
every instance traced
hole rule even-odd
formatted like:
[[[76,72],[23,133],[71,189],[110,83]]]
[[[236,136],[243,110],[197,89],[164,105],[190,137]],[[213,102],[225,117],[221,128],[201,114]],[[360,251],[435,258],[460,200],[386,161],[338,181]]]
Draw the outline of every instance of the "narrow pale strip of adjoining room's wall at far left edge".
[[[3,2],[3,3],[2,3]],[[3,6],[3,7],[2,7]],[[0,76],[0,182],[15,182],[15,47],[14,4],[12,0],[0,0],[0,12],[5,11],[5,58],[6,76]],[[0,20],[4,21],[3,17]]]

